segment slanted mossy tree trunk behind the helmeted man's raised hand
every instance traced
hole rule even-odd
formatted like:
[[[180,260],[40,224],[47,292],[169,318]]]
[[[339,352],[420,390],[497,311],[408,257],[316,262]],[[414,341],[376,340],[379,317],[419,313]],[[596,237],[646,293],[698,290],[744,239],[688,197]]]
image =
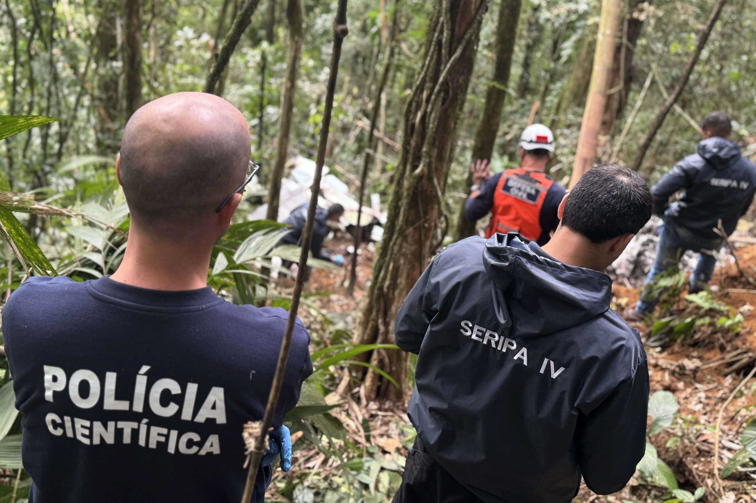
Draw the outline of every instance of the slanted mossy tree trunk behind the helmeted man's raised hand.
[[[491,79],[494,83],[488,86],[485,91],[485,104],[483,105],[483,116],[478,123],[475,131],[475,140],[472,143],[472,162],[477,159],[491,159],[491,153],[494,152],[494,143],[496,135],[499,132],[499,123],[501,121],[501,108],[504,105],[504,98],[507,97],[507,82],[510,80],[510,68],[512,67],[512,53],[515,49],[515,40],[517,33],[517,21],[519,20],[519,11],[522,0],[502,0],[499,8],[499,20],[496,29],[496,60],[494,62],[494,77]],[[534,17],[538,20],[538,10],[534,8]],[[528,24],[528,30],[531,28]],[[528,47],[532,50],[534,47],[533,40],[536,37],[528,33]],[[523,63],[522,71],[528,72]],[[520,85],[522,85],[522,78]],[[525,82],[527,85],[527,82]],[[469,194],[469,187],[472,185],[472,171],[467,171],[466,193]],[[457,230],[454,240],[459,241],[475,234],[476,223],[468,221],[465,218],[465,202],[460,205],[457,215]]]

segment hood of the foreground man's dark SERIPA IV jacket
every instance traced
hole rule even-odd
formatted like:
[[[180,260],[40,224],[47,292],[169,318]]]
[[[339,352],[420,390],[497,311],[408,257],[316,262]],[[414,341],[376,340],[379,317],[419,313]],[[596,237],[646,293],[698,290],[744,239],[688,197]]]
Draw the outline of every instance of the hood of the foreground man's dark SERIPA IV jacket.
[[[562,264],[518,234],[491,236],[483,264],[495,286],[497,317],[513,335],[559,332],[609,310],[609,276]]]

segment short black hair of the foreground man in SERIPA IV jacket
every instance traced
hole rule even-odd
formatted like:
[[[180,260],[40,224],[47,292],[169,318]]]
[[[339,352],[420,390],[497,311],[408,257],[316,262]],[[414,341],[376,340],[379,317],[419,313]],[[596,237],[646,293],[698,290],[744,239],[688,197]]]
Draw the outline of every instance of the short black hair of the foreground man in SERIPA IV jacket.
[[[616,164],[596,166],[569,191],[562,225],[600,243],[636,234],[651,218],[652,198],[646,181]]]

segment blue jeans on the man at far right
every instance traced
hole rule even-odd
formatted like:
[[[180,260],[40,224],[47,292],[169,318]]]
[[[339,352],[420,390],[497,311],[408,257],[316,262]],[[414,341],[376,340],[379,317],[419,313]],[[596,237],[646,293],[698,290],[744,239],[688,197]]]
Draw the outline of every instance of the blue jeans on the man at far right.
[[[659,239],[656,248],[656,258],[653,267],[646,276],[646,285],[655,279],[659,274],[676,269],[680,263],[680,257],[687,250],[699,253],[699,261],[696,264],[696,270],[690,275],[690,289],[693,292],[701,291],[706,288],[707,283],[714,274],[714,266],[717,264],[717,258],[713,252],[717,252],[722,246],[722,239],[703,239],[695,236],[689,230],[679,227],[665,218],[664,230],[662,237]],[[644,291],[640,295],[641,300],[635,307],[635,312],[640,315],[650,313],[658,298],[650,298],[649,292]]]

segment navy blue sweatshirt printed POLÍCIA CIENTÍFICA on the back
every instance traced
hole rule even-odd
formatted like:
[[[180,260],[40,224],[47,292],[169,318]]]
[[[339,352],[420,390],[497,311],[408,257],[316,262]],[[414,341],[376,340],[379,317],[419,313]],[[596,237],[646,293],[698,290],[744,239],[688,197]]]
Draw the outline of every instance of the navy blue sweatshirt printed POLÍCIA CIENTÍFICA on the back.
[[[240,501],[242,427],[262,418],[286,320],[283,309],[237,306],[209,287],[24,282],[2,329],[29,501]],[[308,343],[298,320],[274,428],[312,372]],[[270,475],[259,471],[253,501]]]

